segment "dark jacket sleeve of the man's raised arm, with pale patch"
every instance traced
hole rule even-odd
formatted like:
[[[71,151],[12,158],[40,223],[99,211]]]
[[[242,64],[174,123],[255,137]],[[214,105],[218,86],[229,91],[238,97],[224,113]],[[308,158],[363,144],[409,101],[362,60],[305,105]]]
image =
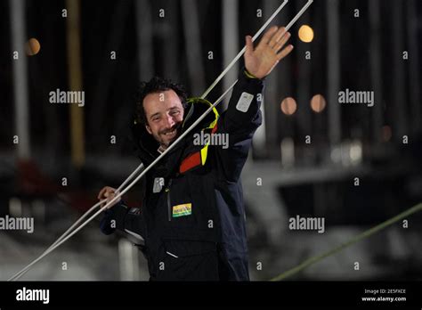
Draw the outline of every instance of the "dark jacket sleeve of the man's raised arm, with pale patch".
[[[264,80],[248,77],[246,69],[241,69],[228,108],[217,122],[216,133],[228,137],[228,147],[215,146],[218,170],[226,181],[237,182],[248,159],[252,137],[262,123],[263,93]]]

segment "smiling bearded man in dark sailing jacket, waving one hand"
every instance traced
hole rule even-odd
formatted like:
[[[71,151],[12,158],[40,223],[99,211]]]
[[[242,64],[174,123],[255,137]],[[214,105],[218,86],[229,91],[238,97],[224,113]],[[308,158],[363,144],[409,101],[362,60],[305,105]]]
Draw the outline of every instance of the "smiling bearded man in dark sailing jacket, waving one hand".
[[[240,173],[252,137],[261,125],[260,100],[266,77],[293,49],[290,34],[272,27],[254,48],[246,37],[245,68],[227,110],[209,113],[146,175],[142,208],[120,200],[101,222],[137,236],[148,260],[150,280],[248,281],[248,246]],[[209,108],[186,100],[183,89],[155,77],[141,88],[134,140],[145,167]],[[210,143],[225,136],[224,145]],[[199,137],[208,136],[208,139]],[[220,141],[224,141],[221,139]],[[99,200],[117,194],[104,187]],[[114,225],[113,225],[114,224]]]

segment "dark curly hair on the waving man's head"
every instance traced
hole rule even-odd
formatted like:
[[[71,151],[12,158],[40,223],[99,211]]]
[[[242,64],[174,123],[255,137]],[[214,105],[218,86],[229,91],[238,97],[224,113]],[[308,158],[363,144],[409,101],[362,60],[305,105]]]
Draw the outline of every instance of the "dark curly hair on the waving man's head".
[[[186,109],[187,93],[184,86],[181,84],[173,83],[171,80],[162,77],[152,77],[149,82],[141,82],[136,92],[136,105],[134,111],[134,121],[137,124],[148,124],[145,116],[145,110],[143,109],[143,99],[148,94],[161,93],[167,90],[173,90],[177,94],[182,102],[183,109]]]

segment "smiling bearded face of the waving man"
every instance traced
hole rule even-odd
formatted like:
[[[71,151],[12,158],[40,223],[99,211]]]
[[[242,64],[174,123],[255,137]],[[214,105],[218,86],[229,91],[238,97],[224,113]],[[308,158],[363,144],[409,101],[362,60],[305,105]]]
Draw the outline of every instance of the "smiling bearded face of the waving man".
[[[148,94],[143,99],[147,131],[162,146],[167,147],[178,134],[183,122],[183,105],[174,90]]]

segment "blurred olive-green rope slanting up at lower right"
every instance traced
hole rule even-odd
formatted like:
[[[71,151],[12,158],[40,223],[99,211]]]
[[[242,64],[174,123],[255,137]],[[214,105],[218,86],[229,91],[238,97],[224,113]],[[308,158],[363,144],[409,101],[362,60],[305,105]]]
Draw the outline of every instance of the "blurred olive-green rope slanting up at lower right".
[[[292,275],[294,275],[296,273],[300,273],[302,270],[309,267],[310,265],[316,264],[326,257],[337,254],[339,251],[341,251],[341,250],[343,250],[347,247],[350,247],[354,243],[362,241],[362,240],[368,238],[369,236],[373,235],[374,233],[379,232],[379,231],[385,229],[386,227],[400,221],[404,217],[411,216],[411,215],[417,213],[420,210],[422,210],[422,203],[419,203],[418,205],[416,205],[412,208],[409,208],[406,211],[403,211],[402,213],[398,214],[397,216],[394,216],[394,217],[386,220],[385,222],[383,222],[381,224],[377,224],[377,226],[372,227],[365,232],[361,232],[357,236],[354,236],[351,240],[340,244],[339,246],[337,246],[334,249],[330,249],[329,251],[327,251],[325,253],[322,253],[320,255],[306,259],[302,264],[296,265],[296,267],[288,269],[288,271],[286,271],[284,273],[280,273],[278,276],[272,278],[270,281],[286,280],[288,277],[291,277]]]

